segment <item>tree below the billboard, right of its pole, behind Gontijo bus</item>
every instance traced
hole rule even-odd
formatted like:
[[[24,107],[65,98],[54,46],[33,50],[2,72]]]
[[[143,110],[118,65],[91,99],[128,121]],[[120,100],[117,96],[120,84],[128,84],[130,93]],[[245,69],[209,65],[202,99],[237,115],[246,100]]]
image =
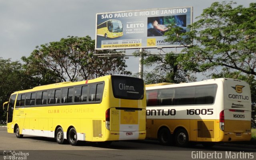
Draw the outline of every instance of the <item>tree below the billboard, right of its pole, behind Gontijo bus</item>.
[[[143,54],[145,57],[143,64],[146,67],[154,66],[154,69],[150,72],[144,72],[145,83],[180,83],[180,82],[190,82],[195,81],[195,77],[191,76],[191,73],[186,69],[183,69],[181,65],[178,64],[178,55],[170,52],[165,55],[161,54],[150,54],[149,52],[140,53],[138,51],[134,52],[135,56],[140,56]]]

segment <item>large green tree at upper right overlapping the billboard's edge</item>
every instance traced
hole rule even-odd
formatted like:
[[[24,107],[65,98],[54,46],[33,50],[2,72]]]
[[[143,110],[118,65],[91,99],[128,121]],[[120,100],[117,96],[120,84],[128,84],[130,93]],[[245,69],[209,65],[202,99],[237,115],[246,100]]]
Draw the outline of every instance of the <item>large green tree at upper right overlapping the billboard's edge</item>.
[[[228,67],[256,75],[256,3],[249,8],[232,7],[233,2],[214,2],[203,10],[199,20],[181,33],[166,32],[166,41],[185,47],[178,57],[185,69],[194,72]]]

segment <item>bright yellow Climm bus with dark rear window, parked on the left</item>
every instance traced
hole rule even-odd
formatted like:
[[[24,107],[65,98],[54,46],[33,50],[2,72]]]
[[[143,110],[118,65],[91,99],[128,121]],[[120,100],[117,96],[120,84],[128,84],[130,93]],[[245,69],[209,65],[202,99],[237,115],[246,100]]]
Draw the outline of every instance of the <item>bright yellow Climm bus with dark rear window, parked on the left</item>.
[[[108,75],[17,91],[7,106],[7,131],[108,143],[146,137],[146,90],[142,79]]]

